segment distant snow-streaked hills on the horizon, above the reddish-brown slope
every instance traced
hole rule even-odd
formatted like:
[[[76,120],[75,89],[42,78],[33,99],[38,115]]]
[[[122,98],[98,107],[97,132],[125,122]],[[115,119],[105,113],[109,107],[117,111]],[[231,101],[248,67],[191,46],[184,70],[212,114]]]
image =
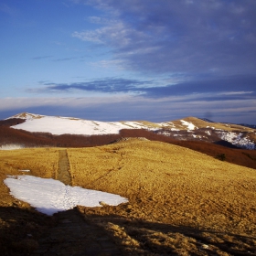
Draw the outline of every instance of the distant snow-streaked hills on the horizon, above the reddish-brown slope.
[[[117,135],[122,130],[143,129],[179,141],[200,141],[251,150],[256,148],[255,129],[237,124],[212,123],[195,117],[164,123],[146,121],[98,122],[23,112],[0,122],[1,125],[9,125],[18,131],[51,134],[51,138],[67,134],[82,136]],[[0,138],[0,145],[4,143],[4,141],[1,142]]]

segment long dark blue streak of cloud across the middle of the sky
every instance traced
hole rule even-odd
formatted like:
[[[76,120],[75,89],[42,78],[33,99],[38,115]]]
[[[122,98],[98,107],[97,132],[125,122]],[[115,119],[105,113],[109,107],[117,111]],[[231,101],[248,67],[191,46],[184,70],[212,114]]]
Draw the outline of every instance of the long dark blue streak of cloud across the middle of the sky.
[[[182,80],[183,79],[183,80]],[[41,82],[39,88],[27,92],[70,92],[93,91],[102,93],[127,93],[141,95],[144,98],[161,99],[165,97],[184,97],[190,101],[207,99],[208,101],[250,100],[256,98],[256,76],[240,75],[229,77],[187,77],[180,80],[135,80],[123,78],[105,78],[73,83]]]

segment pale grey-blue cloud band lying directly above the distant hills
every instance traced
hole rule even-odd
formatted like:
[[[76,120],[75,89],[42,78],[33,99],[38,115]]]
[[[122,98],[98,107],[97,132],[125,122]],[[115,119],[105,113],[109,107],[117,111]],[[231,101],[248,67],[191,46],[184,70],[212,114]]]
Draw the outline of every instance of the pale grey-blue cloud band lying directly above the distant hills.
[[[0,119],[18,112],[78,117],[98,121],[147,120],[171,121],[186,116],[211,117],[218,122],[251,123],[255,120],[255,98],[243,100],[190,101],[191,96],[166,96],[149,99],[142,96],[10,98],[0,101]],[[159,114],[161,113],[161,114]]]

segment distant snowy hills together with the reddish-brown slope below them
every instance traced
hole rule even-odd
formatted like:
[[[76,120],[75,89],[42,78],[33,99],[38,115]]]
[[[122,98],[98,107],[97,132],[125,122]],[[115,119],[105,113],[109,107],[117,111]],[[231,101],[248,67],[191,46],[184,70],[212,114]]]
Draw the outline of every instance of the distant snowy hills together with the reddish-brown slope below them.
[[[50,133],[53,126],[55,133],[59,131],[60,134]],[[78,128],[79,132],[83,131],[84,134],[79,134],[76,130]],[[72,134],[63,133],[64,129],[65,132],[72,131]],[[91,147],[112,144],[126,137],[144,137],[151,141],[176,144],[236,165],[256,169],[256,151],[246,149],[255,149],[255,130],[236,124],[208,123],[194,117],[166,123],[100,123],[29,113],[0,121],[2,149]]]

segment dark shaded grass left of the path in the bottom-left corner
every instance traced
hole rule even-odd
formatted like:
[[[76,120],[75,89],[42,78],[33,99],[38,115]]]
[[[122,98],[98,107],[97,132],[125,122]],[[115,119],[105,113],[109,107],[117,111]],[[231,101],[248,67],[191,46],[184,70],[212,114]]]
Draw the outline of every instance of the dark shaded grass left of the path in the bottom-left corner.
[[[55,219],[33,209],[0,207],[0,254],[31,255],[38,240]]]

